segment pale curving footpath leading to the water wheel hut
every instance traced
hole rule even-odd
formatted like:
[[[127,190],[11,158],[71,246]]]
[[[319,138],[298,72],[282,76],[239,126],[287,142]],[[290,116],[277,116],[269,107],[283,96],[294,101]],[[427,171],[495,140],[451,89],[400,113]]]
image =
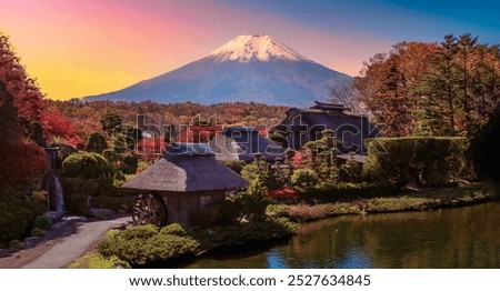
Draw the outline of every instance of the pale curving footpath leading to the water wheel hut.
[[[77,222],[53,231],[36,247],[0,259],[0,268],[59,269],[86,253],[102,234],[114,225],[131,221],[130,217]]]

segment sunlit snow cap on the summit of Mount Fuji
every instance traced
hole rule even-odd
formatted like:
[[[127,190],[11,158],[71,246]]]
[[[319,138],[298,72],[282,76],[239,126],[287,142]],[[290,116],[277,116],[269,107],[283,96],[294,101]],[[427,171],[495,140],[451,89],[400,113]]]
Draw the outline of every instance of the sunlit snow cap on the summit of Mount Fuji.
[[[266,34],[239,36],[210,53],[220,61],[309,61],[286,44]]]

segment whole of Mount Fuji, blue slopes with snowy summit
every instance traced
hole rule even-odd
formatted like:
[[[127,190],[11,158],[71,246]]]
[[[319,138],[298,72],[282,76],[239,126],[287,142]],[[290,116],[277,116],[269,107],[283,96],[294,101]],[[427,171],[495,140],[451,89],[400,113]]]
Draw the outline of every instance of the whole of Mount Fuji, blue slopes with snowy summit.
[[[351,77],[317,63],[269,36],[239,36],[208,57],[122,90],[84,99],[159,103],[259,102],[307,107]]]

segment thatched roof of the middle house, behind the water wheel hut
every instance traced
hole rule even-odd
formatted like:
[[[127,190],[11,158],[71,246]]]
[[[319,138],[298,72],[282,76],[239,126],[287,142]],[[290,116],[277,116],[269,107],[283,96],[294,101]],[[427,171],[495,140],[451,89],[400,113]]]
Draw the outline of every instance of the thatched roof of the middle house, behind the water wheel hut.
[[[268,161],[286,158],[286,149],[260,136],[253,127],[228,127],[222,133],[223,136],[217,136],[208,142],[218,160],[251,162],[258,153]]]

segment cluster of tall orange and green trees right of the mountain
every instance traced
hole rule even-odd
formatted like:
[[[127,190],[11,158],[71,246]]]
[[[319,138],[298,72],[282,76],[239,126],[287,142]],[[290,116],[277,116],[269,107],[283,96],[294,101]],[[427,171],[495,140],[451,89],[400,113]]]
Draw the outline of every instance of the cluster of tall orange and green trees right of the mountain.
[[[353,90],[384,134],[473,136],[499,102],[498,46],[477,37],[401,42],[364,63]]]

